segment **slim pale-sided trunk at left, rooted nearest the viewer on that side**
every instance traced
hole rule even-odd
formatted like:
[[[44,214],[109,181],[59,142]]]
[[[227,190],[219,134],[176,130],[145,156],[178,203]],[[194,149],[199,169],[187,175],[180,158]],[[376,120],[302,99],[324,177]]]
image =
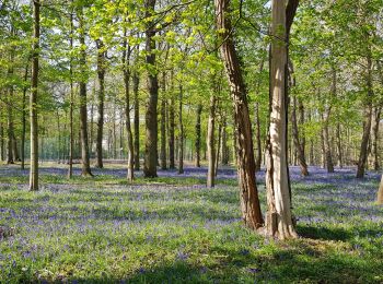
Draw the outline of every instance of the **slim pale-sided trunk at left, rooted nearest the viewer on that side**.
[[[39,57],[39,0],[33,2],[33,57],[32,57],[32,84],[30,95],[31,119],[31,167],[30,190],[38,190],[38,125],[37,125],[37,84],[38,84],[38,57]]]

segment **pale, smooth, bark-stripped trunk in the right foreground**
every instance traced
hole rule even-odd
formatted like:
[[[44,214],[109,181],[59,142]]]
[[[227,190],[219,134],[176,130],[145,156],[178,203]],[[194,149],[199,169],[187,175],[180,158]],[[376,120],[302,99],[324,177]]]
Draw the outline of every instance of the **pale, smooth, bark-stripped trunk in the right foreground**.
[[[291,212],[291,190],[287,153],[288,118],[288,46],[289,31],[292,23],[291,4],[298,2],[286,0],[271,1],[271,40],[270,49],[270,127],[267,143],[267,217],[266,234],[278,239],[297,238]],[[294,11],[297,9],[294,7]],[[292,17],[294,14],[292,13]],[[291,23],[289,25],[289,21]],[[281,42],[286,38],[286,43]]]

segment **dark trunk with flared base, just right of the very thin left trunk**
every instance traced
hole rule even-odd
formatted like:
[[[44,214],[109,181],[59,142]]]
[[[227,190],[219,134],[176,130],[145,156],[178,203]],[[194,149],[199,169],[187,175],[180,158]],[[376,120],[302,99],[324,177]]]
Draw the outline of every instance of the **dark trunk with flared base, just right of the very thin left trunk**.
[[[79,25],[80,25],[80,44],[85,47],[85,32],[84,32],[84,19],[83,8],[79,10]],[[80,133],[81,133],[81,175],[93,176],[91,171],[91,164],[89,157],[89,143],[88,143],[88,111],[86,111],[86,50],[81,49],[80,52],[80,66],[82,79],[79,82],[80,85]]]

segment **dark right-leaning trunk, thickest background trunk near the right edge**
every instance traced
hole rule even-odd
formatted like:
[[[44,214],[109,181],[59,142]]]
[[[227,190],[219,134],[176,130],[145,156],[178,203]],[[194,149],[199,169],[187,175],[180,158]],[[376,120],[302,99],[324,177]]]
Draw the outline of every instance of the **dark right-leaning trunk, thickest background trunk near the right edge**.
[[[363,121],[363,135],[360,143],[357,178],[364,177],[365,162],[368,156],[368,146],[370,141],[371,123],[372,123],[372,60],[371,54],[367,58],[367,98],[365,98],[365,110]]]

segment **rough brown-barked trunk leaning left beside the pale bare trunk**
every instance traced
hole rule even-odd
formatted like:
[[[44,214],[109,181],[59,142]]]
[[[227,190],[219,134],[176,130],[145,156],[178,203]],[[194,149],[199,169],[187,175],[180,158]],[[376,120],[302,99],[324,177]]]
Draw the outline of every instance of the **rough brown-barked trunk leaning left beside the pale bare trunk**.
[[[235,152],[241,190],[242,218],[246,226],[257,229],[263,226],[264,220],[255,180],[255,161],[247,94],[232,39],[232,25],[228,14],[230,11],[229,3],[229,0],[214,0],[217,28],[221,32],[220,39],[225,39],[222,40],[220,50],[234,105]]]

